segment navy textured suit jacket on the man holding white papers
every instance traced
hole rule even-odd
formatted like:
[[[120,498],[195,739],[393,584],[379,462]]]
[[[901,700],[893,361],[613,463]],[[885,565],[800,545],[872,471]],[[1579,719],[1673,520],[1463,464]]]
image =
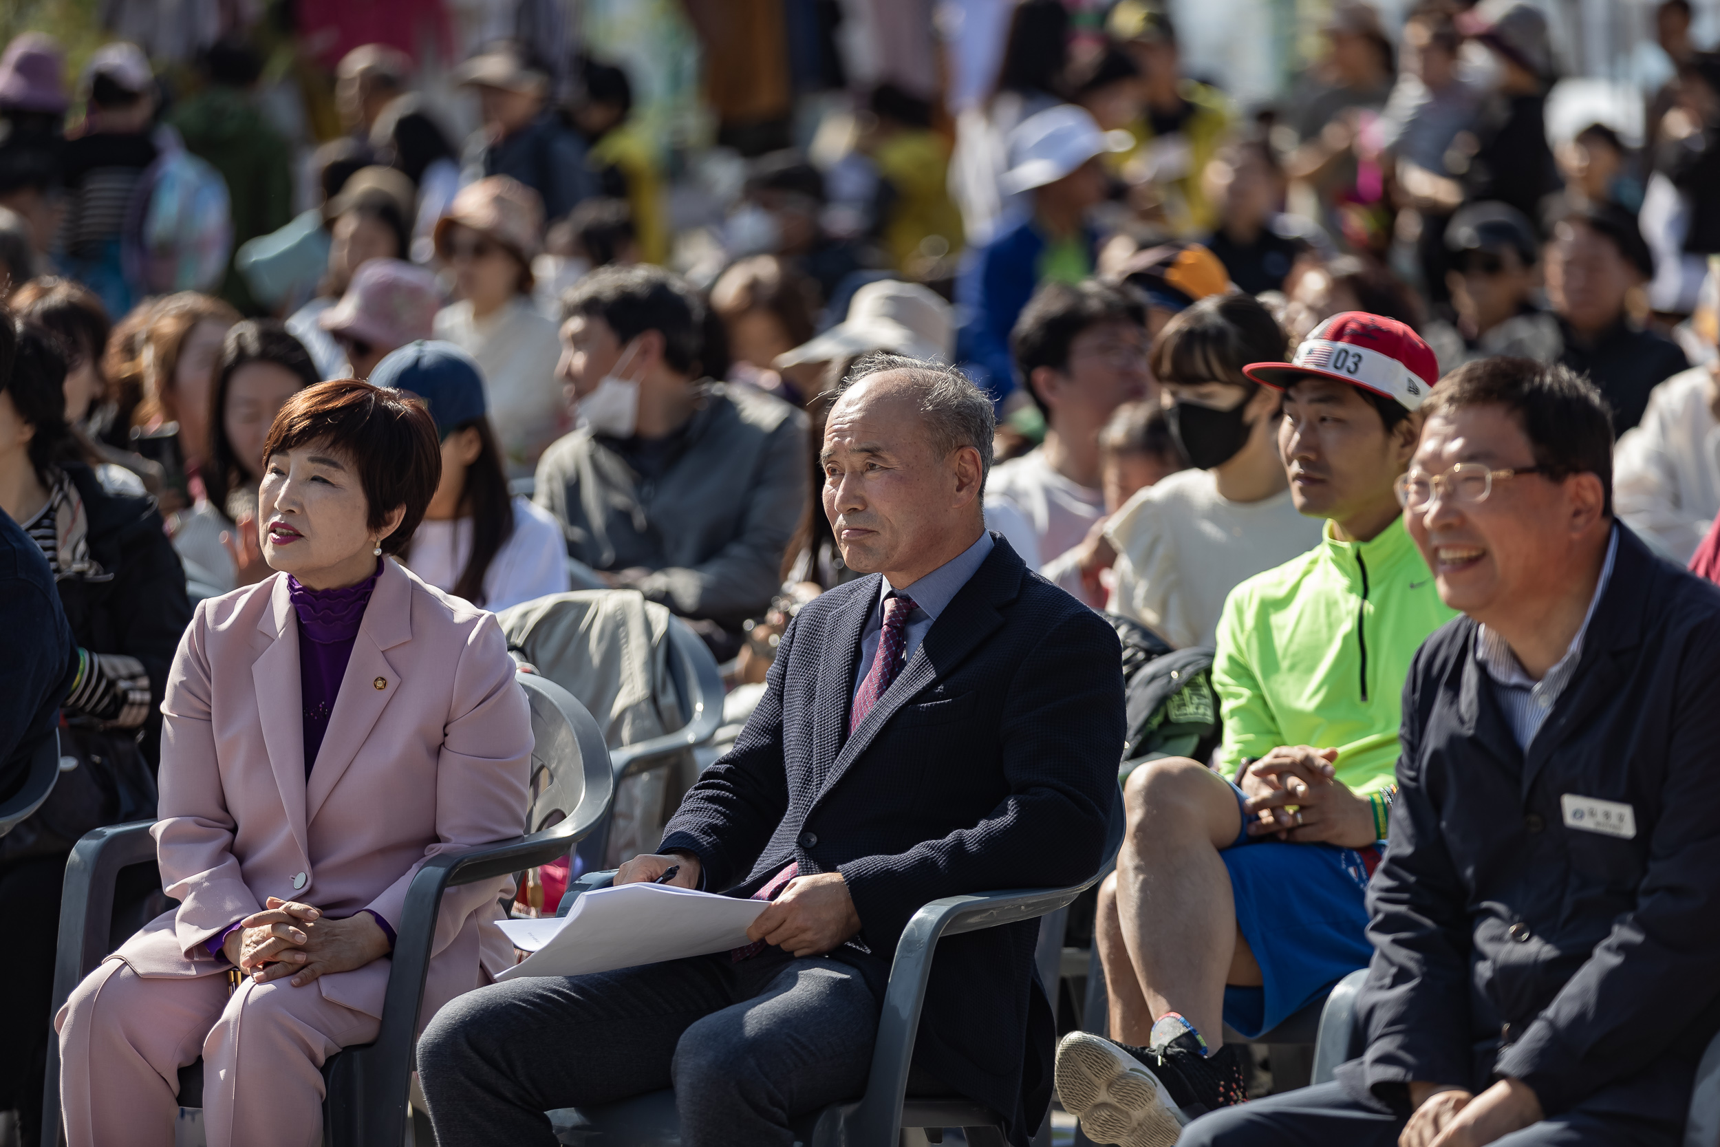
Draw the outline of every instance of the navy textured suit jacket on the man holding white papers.
[[[1123,672],[1099,614],[1003,538],[937,616],[865,721],[845,736],[860,629],[879,574],[795,617],[764,700],[705,770],[662,850],[707,887],[750,896],[788,862],[841,872],[870,954],[839,948],[882,994],[927,901],[1078,884],[1097,872],[1118,800]],[[1025,1144],[1051,1099],[1054,1025],[1034,968],[1037,922],[943,941],[915,1063],[991,1106]]]

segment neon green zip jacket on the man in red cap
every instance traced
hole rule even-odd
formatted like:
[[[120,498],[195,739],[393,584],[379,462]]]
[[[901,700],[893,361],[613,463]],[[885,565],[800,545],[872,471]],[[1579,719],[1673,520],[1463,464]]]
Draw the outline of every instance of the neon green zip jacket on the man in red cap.
[[[1335,540],[1328,521],[1319,545],[1225,598],[1213,660],[1225,776],[1312,745],[1338,750],[1338,779],[1357,793],[1393,784],[1409,662],[1455,616],[1402,519],[1362,543]]]

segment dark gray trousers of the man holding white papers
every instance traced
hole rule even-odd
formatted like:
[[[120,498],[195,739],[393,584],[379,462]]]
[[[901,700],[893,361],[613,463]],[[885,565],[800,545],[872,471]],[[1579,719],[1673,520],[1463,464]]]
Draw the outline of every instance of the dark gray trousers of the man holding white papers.
[[[789,1147],[865,1090],[879,1001],[848,965],[767,948],[456,997],[418,1040],[439,1147],[554,1147],[545,1111],[674,1087],[685,1147]]]

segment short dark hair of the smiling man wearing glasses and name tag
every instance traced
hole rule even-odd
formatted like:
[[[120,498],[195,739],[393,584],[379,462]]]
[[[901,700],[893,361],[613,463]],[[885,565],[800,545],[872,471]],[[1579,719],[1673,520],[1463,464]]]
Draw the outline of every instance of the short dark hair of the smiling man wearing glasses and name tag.
[[[1522,426],[1534,464],[1551,481],[1570,475],[1601,480],[1612,516],[1612,409],[1584,375],[1533,358],[1495,356],[1459,366],[1440,380],[1422,411],[1450,414],[1471,406],[1502,406]]]

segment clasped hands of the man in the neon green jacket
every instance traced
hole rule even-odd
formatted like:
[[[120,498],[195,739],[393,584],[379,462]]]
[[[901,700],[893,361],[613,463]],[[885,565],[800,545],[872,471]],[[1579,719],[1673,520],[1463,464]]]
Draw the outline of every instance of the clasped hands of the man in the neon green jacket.
[[[1340,848],[1366,848],[1379,839],[1373,805],[1336,779],[1336,760],[1335,748],[1281,745],[1249,765],[1240,782],[1247,815],[1256,817],[1249,836]]]

